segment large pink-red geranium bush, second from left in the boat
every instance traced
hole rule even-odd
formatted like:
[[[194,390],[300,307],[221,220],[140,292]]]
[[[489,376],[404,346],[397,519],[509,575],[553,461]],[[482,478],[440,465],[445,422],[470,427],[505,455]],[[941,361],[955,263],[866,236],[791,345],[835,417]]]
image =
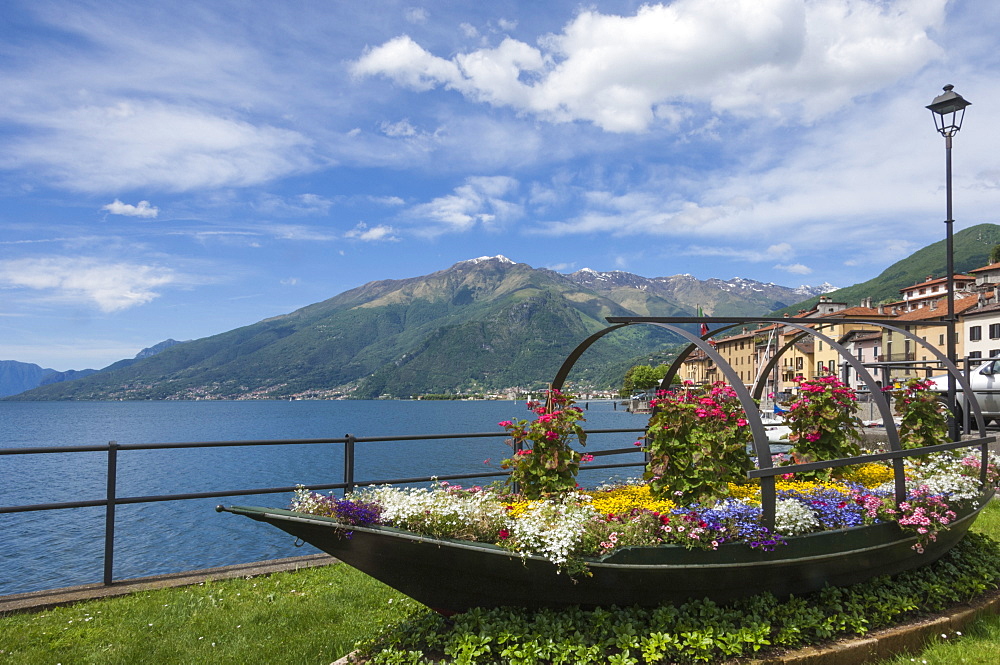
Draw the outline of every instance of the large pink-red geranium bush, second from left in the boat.
[[[653,407],[643,477],[654,496],[680,505],[707,502],[728,496],[730,482],[746,480],[752,434],[732,388],[685,386],[653,400]]]

